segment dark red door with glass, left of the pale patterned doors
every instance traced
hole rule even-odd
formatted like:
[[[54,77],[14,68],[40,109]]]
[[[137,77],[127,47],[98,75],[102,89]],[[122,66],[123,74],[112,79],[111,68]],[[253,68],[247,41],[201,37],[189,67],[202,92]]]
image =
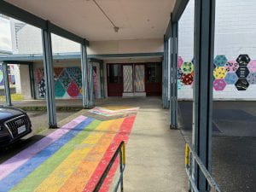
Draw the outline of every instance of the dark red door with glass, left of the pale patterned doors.
[[[108,64],[108,96],[123,95],[123,73],[121,64]]]

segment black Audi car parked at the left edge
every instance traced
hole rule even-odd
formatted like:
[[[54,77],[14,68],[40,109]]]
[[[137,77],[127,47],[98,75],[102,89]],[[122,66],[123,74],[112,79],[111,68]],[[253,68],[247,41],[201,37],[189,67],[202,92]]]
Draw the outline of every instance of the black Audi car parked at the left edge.
[[[32,131],[26,112],[0,106],[0,146],[14,143]]]

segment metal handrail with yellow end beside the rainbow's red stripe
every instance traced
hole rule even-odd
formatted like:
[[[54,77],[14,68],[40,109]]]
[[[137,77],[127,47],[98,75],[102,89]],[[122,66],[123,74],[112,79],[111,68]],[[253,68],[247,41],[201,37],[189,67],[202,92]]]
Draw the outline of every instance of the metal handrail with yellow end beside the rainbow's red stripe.
[[[111,160],[108,163],[108,166],[106,167],[106,169],[102,173],[102,177],[99,179],[98,183],[96,183],[96,187],[93,190],[93,192],[97,192],[97,191],[99,191],[101,189],[102,184],[104,183],[105,178],[108,176],[108,172],[110,171],[111,167],[113,166],[113,163],[116,160],[118,154],[119,154],[120,176],[119,176],[118,183],[116,183],[113,191],[117,192],[118,189],[119,189],[119,185],[120,185],[121,192],[124,191],[123,173],[125,171],[125,142],[122,141],[119,144],[119,147],[114,152],[113,157],[111,158]]]

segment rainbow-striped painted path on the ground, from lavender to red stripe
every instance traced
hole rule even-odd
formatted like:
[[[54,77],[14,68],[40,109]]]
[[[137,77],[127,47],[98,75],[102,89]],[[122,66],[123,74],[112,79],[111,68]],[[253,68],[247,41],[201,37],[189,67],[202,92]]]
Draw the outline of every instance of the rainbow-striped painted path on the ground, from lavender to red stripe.
[[[90,192],[121,141],[127,143],[136,113],[99,120],[83,115],[0,165],[0,192]],[[108,191],[116,162],[103,183]]]

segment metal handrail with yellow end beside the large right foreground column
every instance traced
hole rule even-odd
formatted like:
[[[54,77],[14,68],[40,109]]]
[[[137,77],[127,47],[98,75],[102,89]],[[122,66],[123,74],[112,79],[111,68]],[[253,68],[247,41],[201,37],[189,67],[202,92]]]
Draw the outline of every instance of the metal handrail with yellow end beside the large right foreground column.
[[[192,154],[192,155],[191,155]],[[213,177],[211,176],[210,172],[208,172],[207,167],[204,166],[204,164],[202,163],[200,157],[195,153],[195,151],[193,150],[193,148],[191,148],[191,146],[189,145],[189,143],[186,143],[186,149],[185,149],[185,166],[186,166],[186,172],[188,174],[189,177],[189,182],[191,183],[191,187],[193,188],[193,190],[195,192],[198,192],[199,190],[197,189],[196,185],[195,185],[195,180],[193,179],[193,177],[191,176],[191,171],[190,171],[190,158],[193,158],[193,160],[195,160],[195,162],[197,163],[197,165],[199,166],[199,168],[201,169],[201,172],[204,174],[204,176],[207,179],[208,184],[211,186],[211,191],[212,192],[221,192],[221,190],[218,188],[218,184],[215,182],[215,180],[213,179]]]

